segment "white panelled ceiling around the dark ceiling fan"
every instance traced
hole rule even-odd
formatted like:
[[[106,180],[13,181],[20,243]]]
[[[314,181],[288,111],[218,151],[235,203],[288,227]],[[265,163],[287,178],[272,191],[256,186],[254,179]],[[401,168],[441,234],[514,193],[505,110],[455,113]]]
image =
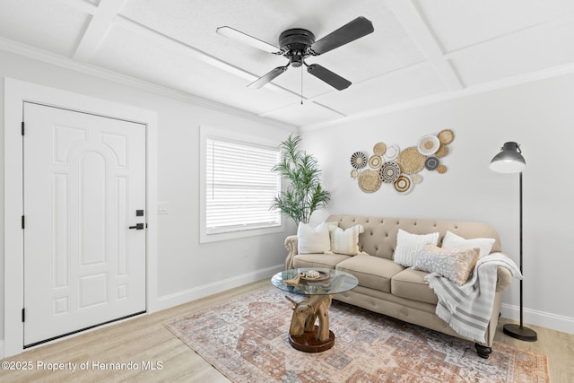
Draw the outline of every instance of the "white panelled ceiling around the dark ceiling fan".
[[[283,30],[320,39],[358,16],[375,31],[307,60],[350,80],[344,91],[294,67],[248,89],[286,58],[215,33],[230,26],[277,46]],[[574,1],[1,0],[0,48],[14,44],[311,128],[574,72]]]

